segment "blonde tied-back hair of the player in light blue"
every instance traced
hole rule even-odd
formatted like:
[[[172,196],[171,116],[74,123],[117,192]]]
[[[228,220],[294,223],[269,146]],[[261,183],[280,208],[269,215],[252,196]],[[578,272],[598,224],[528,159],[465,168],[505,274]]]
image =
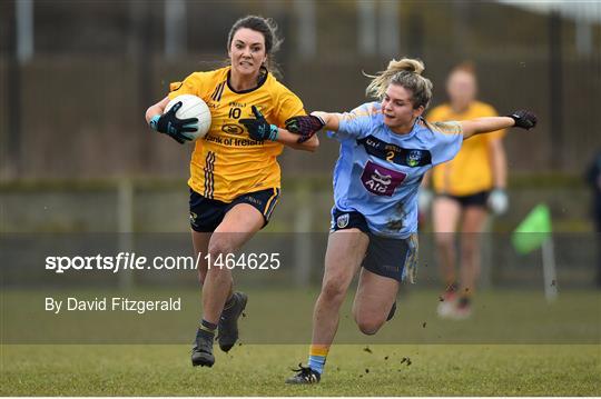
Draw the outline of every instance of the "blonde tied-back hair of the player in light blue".
[[[364,74],[372,78],[370,86],[365,90],[367,97],[383,98],[390,84],[400,84],[411,90],[413,93],[412,102],[414,108],[423,106],[427,108],[432,98],[432,82],[422,77],[425,67],[421,60],[403,58],[400,61],[392,60],[385,71],[377,74]]]

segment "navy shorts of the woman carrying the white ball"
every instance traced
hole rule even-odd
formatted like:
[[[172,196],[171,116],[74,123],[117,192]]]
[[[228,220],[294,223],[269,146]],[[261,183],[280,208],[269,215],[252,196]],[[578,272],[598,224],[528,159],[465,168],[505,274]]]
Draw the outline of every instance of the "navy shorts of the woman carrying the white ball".
[[[277,205],[279,189],[248,192],[234,199],[231,202],[223,202],[200,196],[190,189],[190,227],[198,232],[213,232],[224,220],[225,215],[238,203],[248,203],[255,207],[265,220],[263,227],[269,222],[269,218]]]

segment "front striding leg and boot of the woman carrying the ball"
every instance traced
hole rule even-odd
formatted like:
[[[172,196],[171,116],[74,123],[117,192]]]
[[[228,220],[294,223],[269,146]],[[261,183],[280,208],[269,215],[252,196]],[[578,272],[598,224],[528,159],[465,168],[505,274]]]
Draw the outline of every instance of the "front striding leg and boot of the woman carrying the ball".
[[[203,321],[199,329],[200,336],[197,336],[198,350],[193,352],[194,366],[211,367],[215,362],[213,340],[224,306],[231,292],[231,270],[218,267],[217,259],[221,257],[225,262],[225,257],[248,241],[263,227],[263,215],[256,208],[240,203],[226,213],[209,240],[207,253],[210,260],[203,287]],[[240,299],[242,309],[244,309],[246,296],[240,298],[244,298]],[[242,303],[243,300],[244,303]],[[242,310],[239,312],[242,313]],[[237,328],[235,332],[237,336]]]

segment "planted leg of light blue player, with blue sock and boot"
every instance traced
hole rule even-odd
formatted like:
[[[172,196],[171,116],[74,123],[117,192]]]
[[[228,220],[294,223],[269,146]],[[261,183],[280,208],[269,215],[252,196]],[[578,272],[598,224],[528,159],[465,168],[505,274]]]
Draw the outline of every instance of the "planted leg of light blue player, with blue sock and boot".
[[[319,382],[325,358],[338,329],[341,306],[368,243],[367,235],[358,229],[338,230],[329,235],[322,291],[313,311],[309,363],[295,370],[298,372],[288,378],[287,383]]]

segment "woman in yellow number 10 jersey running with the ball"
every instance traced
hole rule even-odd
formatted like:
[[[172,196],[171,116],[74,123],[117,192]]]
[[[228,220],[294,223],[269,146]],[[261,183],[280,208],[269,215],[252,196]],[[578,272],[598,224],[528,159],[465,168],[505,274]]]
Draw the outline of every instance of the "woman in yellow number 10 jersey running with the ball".
[[[228,34],[228,67],[195,72],[175,83],[168,97],[151,106],[146,119],[151,128],[178,142],[196,119],[179,120],[180,94],[200,97],[211,112],[211,127],[196,142],[190,161],[190,225],[196,253],[211,262],[239,249],[269,220],[277,203],[280,171],[276,157],[283,147],[313,151],[316,137],[303,141],[279,129],[292,117],[306,114],[302,101],[269,73],[269,58],[280,40],[272,20],[248,16]],[[179,104],[179,107],[178,107]],[[247,297],[234,292],[231,271],[204,265],[203,319],[193,348],[193,366],[211,367],[213,342],[218,329],[219,347],[229,351],[238,339],[237,320]]]

